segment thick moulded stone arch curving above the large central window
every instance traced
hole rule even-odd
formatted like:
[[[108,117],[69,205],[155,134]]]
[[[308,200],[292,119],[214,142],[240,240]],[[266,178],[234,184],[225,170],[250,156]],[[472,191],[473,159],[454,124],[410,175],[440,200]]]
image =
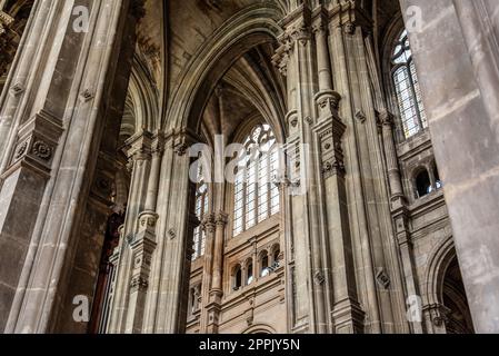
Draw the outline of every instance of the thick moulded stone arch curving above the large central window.
[[[281,33],[278,21],[282,16],[281,9],[271,3],[256,4],[240,11],[207,40],[186,68],[172,96],[163,122],[166,131],[186,127],[199,131],[202,112],[217,83],[242,53],[276,41]],[[276,122],[281,116],[273,111],[276,115],[266,119],[280,128],[276,135],[282,139],[283,126]]]

